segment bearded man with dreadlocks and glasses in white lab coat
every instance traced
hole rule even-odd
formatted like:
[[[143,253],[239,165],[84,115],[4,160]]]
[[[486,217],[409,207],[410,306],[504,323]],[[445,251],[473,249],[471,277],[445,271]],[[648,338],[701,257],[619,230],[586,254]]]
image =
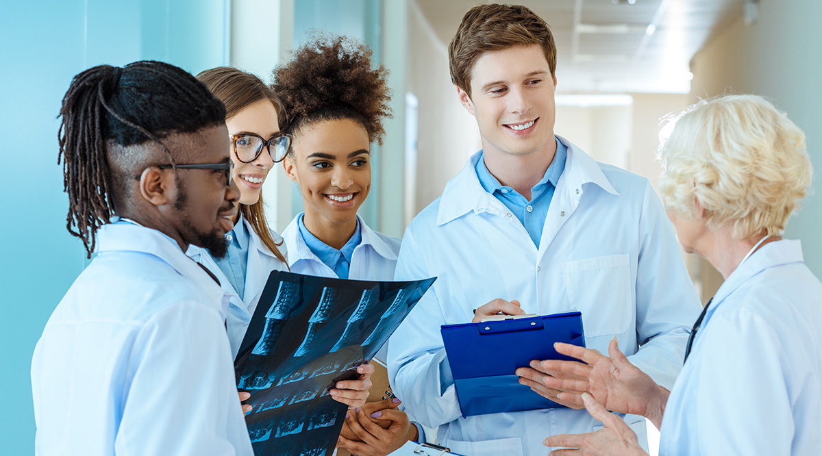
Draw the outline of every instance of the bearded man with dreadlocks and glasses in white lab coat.
[[[233,228],[223,104],[136,62],[75,76],[60,115],[67,228],[97,257],[35,348],[36,454],[251,455],[229,296],[184,253],[224,255]]]

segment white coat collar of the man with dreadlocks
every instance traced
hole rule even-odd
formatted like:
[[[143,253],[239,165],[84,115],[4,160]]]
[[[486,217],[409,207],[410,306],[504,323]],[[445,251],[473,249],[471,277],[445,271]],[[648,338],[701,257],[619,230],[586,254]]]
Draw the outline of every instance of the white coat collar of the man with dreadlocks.
[[[97,233],[95,252],[136,251],[156,256],[171,266],[178,274],[194,283],[202,290],[210,302],[205,302],[219,311],[225,318],[229,300],[223,288],[214,281],[194,260],[186,256],[173,238],[153,228],[146,228],[130,219],[120,219],[117,223],[107,223]]]

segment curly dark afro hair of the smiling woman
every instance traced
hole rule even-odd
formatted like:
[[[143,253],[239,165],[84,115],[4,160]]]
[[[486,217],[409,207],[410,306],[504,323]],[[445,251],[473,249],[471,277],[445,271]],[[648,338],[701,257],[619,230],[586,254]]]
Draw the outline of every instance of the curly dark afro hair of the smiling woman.
[[[319,37],[274,71],[271,88],[291,117],[286,131],[339,119],[360,122],[368,140],[382,144],[382,119],[391,117],[388,70],[373,70],[371,49],[344,36]]]

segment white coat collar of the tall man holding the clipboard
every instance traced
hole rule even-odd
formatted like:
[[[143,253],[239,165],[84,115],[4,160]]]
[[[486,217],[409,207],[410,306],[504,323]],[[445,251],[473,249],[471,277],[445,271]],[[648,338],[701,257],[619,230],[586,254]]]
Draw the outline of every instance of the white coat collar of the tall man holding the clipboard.
[[[566,191],[570,198],[579,198],[582,195],[576,193],[575,189],[583,189],[584,184],[593,184],[608,193],[619,195],[594,159],[562,136],[556,136],[556,140],[566,147],[566,163],[560,173],[561,178],[556,180],[556,191]],[[436,214],[437,225],[458,219],[471,211],[483,212],[492,204],[491,193],[483,188],[477,176],[476,168],[482,154],[482,151],[473,154],[462,171],[446,184],[440,197],[440,209]]]

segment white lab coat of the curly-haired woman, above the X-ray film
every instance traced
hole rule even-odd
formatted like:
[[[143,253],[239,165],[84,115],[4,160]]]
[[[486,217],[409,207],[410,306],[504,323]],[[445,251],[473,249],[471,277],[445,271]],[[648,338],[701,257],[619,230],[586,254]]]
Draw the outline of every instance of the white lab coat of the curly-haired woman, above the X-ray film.
[[[302,239],[298,219],[299,214],[283,230],[285,245],[289,247],[289,267],[298,274],[316,275],[319,277],[337,277],[334,269],[322,262],[305,240]],[[354,247],[349,265],[349,279],[352,280],[393,280],[394,269],[399,253],[399,239],[368,228],[358,215],[360,235],[359,245]]]

